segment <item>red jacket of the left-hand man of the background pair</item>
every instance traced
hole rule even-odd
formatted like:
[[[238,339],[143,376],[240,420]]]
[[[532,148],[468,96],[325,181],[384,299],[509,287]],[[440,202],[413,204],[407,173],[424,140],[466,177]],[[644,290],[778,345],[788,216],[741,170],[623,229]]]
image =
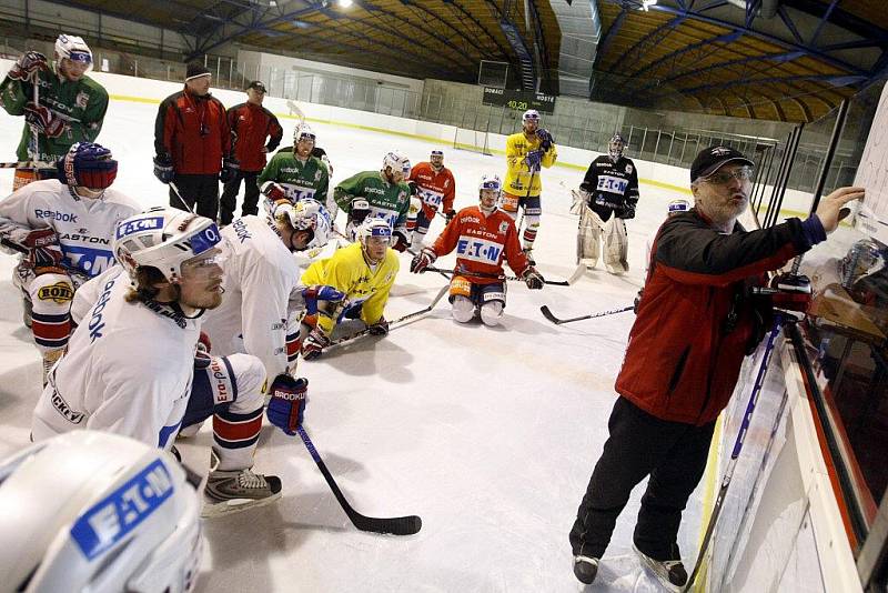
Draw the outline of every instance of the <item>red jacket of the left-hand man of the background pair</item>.
[[[202,133],[203,131],[203,133]],[[180,174],[215,174],[231,152],[231,128],[219,99],[188,89],[160,104],[154,121],[154,151],[169,154]]]

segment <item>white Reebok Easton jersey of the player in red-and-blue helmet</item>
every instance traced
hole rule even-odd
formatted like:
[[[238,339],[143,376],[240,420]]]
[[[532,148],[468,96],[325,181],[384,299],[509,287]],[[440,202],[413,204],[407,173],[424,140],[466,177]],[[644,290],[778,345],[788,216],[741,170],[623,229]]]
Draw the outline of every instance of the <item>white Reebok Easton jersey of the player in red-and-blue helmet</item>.
[[[59,235],[65,265],[92,278],[114,263],[111,238],[117,223],[142,210],[112,188],[91,200],[75,198],[58,180],[34,181],[0,202],[0,237],[13,229],[50,227]]]

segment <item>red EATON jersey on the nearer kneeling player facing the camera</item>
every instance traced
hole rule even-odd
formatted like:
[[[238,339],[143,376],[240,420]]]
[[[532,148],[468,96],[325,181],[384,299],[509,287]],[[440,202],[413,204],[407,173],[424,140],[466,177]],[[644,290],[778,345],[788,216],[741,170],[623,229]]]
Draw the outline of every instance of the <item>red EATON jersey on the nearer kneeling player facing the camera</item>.
[[[470,273],[502,275],[503,258],[517,275],[531,267],[527,255],[521,250],[515,222],[500,209],[486,217],[476,205],[460,210],[432,245],[437,255],[446,255],[454,249],[456,269]],[[501,281],[470,274],[465,279],[475,284]]]

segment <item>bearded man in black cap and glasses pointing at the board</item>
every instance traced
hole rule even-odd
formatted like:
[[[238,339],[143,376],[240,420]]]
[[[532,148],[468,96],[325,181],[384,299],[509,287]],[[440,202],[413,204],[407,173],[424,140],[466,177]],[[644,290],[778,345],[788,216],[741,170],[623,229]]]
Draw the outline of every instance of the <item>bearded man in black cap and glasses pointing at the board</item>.
[[[778,288],[770,298],[753,298],[750,289],[825,241],[840,209],[864,198],[862,188],[840,188],[805,221],[746,231],[737,219],[749,204],[751,174],[753,161],[729,147],[702,151],[690,169],[695,207],[668,218],[654,241],[609,436],[571,530],[574,574],[583,583],[595,580],[617,516],[648,475],[634,549],[669,590],[686,583],[678,526],[706,468],[716,418],[743,359],[770,329],[771,306],[804,311],[807,304],[798,292]]]

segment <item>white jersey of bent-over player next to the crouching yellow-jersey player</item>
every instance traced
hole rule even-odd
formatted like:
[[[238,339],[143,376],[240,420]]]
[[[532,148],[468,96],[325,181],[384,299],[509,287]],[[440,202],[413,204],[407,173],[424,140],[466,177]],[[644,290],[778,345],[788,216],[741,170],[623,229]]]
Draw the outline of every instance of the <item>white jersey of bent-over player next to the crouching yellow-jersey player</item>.
[[[212,353],[258,356],[269,378],[286,370],[287,302],[300,267],[264,218],[249,215],[222,229],[222,304],[208,311],[203,331]]]

